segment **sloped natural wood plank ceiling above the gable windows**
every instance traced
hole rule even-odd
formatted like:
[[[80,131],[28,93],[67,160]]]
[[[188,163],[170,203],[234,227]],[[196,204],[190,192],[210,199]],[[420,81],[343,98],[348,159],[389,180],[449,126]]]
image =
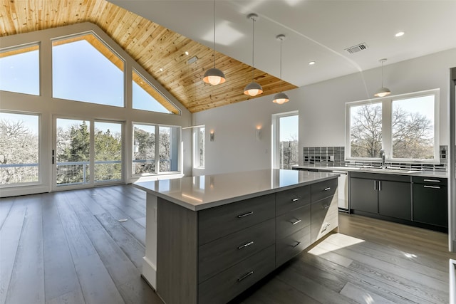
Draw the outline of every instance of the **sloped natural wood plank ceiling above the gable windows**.
[[[150,1],[153,6],[153,1]],[[153,9],[153,7],[151,7]],[[252,67],[215,52],[215,65],[227,82],[212,86],[202,81],[213,67],[213,51],[105,0],[10,0],[0,6],[0,36],[27,33],[74,23],[92,22],[113,38],[190,112],[249,100],[244,87],[252,81]],[[185,55],[185,51],[190,56]],[[195,63],[187,63],[197,56]],[[295,85],[256,70],[262,95],[291,90]]]

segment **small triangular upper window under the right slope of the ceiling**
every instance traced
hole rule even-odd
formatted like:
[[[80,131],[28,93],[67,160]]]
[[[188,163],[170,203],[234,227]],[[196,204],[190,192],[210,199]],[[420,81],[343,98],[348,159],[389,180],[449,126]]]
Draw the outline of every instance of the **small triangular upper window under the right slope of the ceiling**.
[[[133,70],[133,109],[180,114],[180,110],[175,105],[135,70]]]

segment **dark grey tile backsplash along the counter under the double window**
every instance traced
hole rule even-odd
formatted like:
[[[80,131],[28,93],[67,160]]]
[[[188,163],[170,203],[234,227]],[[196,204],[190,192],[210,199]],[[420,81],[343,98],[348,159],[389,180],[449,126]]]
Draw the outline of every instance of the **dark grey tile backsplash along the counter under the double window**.
[[[304,166],[310,167],[345,167],[372,166],[380,167],[380,162],[346,162],[345,147],[304,147]],[[422,169],[432,171],[447,171],[447,146],[440,146],[440,164],[419,164],[410,162],[386,162],[390,167],[404,169]]]

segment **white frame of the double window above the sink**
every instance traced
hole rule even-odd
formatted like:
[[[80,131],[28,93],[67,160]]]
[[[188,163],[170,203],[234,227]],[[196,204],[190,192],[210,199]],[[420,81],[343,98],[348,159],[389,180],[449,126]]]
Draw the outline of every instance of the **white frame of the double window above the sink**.
[[[413,159],[413,158],[393,158],[393,125],[392,125],[392,105],[394,101],[419,98],[423,96],[434,95],[434,158],[432,159]],[[385,161],[387,162],[408,162],[419,164],[439,164],[439,144],[440,144],[440,89],[423,90],[414,93],[405,93],[392,95],[384,98],[375,98],[361,101],[346,103],[345,107],[345,160],[360,162],[381,162],[380,157],[351,157],[351,107],[359,105],[369,105],[381,103],[382,105],[382,149],[385,151]]]

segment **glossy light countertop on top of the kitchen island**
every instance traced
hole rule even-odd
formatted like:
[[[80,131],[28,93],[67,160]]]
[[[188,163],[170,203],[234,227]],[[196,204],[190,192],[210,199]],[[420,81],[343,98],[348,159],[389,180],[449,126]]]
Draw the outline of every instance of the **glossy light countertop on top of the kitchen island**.
[[[198,211],[234,201],[333,179],[338,174],[299,170],[263,169],[249,172],[137,182],[135,187]]]

